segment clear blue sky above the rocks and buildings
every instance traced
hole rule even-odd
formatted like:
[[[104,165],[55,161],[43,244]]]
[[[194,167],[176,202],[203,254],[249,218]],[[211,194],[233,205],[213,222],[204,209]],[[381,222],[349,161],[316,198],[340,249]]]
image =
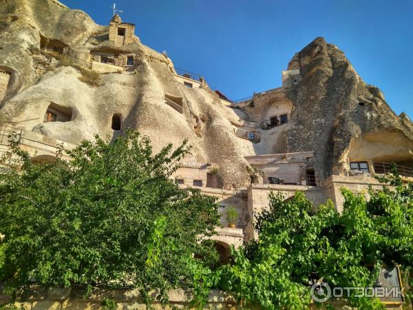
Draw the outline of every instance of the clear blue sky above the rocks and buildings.
[[[107,25],[114,0],[62,0]],[[281,85],[295,52],[324,37],[413,118],[413,1],[117,0],[145,45],[231,99]]]

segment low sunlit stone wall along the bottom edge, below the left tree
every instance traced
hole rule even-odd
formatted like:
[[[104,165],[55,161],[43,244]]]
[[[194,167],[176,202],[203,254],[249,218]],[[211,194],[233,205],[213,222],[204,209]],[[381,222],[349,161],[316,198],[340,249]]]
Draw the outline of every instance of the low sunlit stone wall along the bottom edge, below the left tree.
[[[123,309],[147,309],[140,298],[140,294],[136,289],[94,289],[92,294],[87,298],[83,298],[85,293],[84,288],[80,287],[39,287],[34,286],[26,294],[24,298],[19,298],[14,302],[17,309],[25,310],[63,310],[63,309],[105,309],[101,303],[106,298],[116,300],[116,310]],[[151,295],[156,296],[156,293]],[[0,293],[0,304],[5,304],[10,301],[10,296]],[[176,289],[169,292],[170,305],[165,309],[195,309],[191,307],[191,293],[182,289]],[[7,308],[6,308],[7,309]],[[159,302],[153,304],[153,309],[164,309]],[[242,309],[237,305],[235,300],[227,293],[222,291],[212,291],[209,296],[209,303],[204,309]]]

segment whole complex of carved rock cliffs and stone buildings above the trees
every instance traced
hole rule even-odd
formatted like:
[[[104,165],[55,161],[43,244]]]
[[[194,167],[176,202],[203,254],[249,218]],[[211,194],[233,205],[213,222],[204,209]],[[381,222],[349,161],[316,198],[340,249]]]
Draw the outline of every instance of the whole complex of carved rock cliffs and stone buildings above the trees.
[[[154,152],[187,138],[191,154],[173,179],[218,198],[223,259],[229,245],[258,237],[254,216],[270,192],[288,199],[301,191],[315,206],[330,199],[341,211],[342,187],[380,188],[374,176],[390,163],[405,181],[413,178],[413,123],[322,38],[293,56],[280,87],[230,101],[143,45],[118,15],[100,26],[54,0],[21,1],[31,27],[0,30],[8,47],[0,49],[0,154],[11,133],[39,163],[52,161],[59,144],[70,148],[94,134],[113,141],[127,128],[149,136]],[[12,22],[9,2],[0,17]],[[87,83],[96,74],[99,83]],[[231,206],[235,228],[226,227]]]

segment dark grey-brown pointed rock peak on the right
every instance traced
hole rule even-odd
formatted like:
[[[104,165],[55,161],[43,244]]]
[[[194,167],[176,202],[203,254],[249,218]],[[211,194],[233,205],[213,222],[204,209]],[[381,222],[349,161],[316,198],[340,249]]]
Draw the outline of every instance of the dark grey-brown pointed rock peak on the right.
[[[314,150],[315,171],[323,179],[342,171],[355,138],[392,132],[399,136],[405,161],[413,160],[412,122],[396,116],[379,88],[364,83],[335,45],[315,39],[291,59],[288,70],[296,68],[303,79],[286,91],[295,108],[277,152]],[[377,142],[383,143],[382,148],[390,143],[386,138]]]

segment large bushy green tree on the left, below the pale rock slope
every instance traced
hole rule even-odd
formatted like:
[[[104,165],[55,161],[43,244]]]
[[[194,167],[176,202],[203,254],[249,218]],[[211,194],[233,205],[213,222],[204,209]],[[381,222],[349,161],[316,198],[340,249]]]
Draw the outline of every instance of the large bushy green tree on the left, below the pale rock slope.
[[[187,141],[153,154],[149,138],[96,136],[54,163],[36,165],[12,145],[22,166],[0,174],[0,282],[6,291],[38,282],[69,287],[160,289],[191,282],[189,258],[218,259],[211,236],[215,198],[180,189],[171,175]],[[70,157],[69,161],[63,154]],[[146,296],[147,297],[147,296]],[[149,301],[149,299],[147,299]]]

